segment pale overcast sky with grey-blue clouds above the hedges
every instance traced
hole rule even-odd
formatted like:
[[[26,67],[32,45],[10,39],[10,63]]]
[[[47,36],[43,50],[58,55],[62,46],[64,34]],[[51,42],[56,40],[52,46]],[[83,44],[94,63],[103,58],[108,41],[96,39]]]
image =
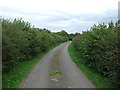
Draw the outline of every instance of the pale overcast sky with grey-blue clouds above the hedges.
[[[119,0],[0,0],[0,16],[22,18],[35,28],[82,33],[118,20]]]

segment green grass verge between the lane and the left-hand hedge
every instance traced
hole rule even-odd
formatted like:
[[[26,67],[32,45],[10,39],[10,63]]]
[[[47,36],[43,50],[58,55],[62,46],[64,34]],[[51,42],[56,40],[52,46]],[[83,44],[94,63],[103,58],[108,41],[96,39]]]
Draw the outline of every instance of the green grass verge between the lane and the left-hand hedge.
[[[58,44],[60,45],[60,44]],[[9,73],[4,74],[2,77],[2,88],[19,88],[21,82],[29,74],[30,70],[40,61],[40,59],[51,49],[58,46],[52,46],[47,49],[45,52],[38,54],[32,60],[22,62],[20,65],[16,66]]]

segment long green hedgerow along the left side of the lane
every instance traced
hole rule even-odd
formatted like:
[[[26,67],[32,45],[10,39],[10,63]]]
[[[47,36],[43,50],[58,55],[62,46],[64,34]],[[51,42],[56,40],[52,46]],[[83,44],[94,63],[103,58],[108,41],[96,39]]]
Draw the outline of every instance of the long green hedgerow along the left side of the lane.
[[[31,23],[20,19],[2,20],[2,72],[7,73],[23,61],[60,42],[66,36],[47,29],[34,28]]]

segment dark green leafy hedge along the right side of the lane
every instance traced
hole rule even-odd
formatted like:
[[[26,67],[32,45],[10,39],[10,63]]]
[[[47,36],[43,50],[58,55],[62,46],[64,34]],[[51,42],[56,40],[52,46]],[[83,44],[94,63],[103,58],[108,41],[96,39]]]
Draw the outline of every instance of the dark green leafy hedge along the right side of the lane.
[[[120,44],[118,23],[94,25],[73,39],[79,54],[85,58],[85,65],[94,68],[109,80],[120,85]]]

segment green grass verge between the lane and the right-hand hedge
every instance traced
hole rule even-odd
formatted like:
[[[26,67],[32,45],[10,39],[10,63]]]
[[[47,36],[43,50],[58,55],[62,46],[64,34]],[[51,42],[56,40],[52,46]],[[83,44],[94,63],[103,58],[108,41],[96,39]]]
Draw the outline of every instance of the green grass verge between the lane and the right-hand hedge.
[[[76,65],[88,77],[88,79],[90,79],[92,81],[92,83],[97,88],[113,88],[114,87],[111,83],[109,83],[107,78],[105,78],[100,73],[96,72],[95,70],[86,67],[83,64],[84,59],[80,58],[80,55],[75,51],[72,43],[68,47],[68,52],[69,52],[72,60],[76,63]]]

